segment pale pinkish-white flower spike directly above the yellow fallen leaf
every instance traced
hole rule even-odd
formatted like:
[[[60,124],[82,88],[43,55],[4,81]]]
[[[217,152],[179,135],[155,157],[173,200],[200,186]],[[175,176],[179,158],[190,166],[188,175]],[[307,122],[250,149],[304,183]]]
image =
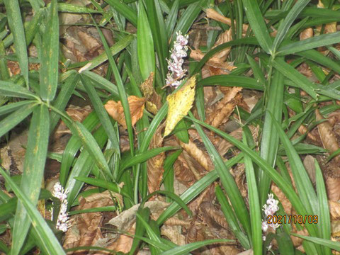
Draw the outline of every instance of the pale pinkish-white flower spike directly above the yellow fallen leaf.
[[[176,33],[176,41],[171,50],[170,58],[167,60],[169,72],[166,74],[166,86],[177,87],[181,84],[181,79],[186,74],[186,69],[182,68],[184,63],[183,57],[186,57],[188,50],[188,35],[182,35],[181,32]]]

